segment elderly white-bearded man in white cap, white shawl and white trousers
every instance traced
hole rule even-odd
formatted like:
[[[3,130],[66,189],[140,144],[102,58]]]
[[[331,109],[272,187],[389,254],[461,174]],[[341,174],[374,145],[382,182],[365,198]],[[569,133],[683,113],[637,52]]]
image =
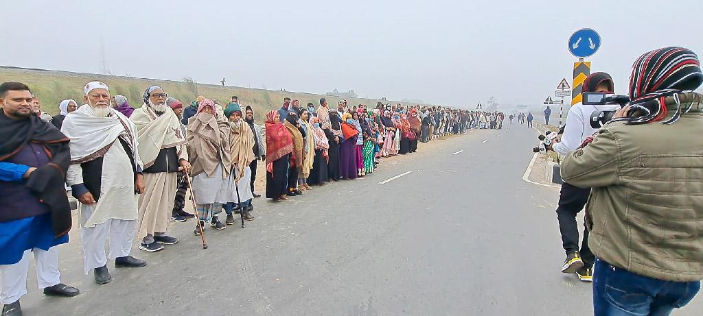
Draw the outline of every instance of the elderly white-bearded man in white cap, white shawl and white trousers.
[[[136,126],[110,108],[110,92],[102,82],[87,84],[84,92],[87,104],[67,115],[61,128],[71,140],[66,182],[81,202],[85,274],[93,269],[95,281],[105,284],[112,280],[105,256],[106,239],[110,240],[110,260],[115,260],[115,267],[146,265],[146,261],[129,256],[137,223],[137,194],[144,190],[144,180]]]

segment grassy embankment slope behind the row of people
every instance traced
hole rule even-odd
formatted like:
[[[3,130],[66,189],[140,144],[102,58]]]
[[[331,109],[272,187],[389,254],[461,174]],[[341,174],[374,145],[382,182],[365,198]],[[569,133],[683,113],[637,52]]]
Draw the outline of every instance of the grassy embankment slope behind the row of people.
[[[20,81],[30,86],[32,93],[41,100],[41,109],[49,114],[58,113],[58,104],[61,100],[74,99],[79,105],[83,102],[83,87],[90,81],[100,80],[110,86],[112,96],[122,95],[129,99],[133,107],[141,107],[144,90],[157,84],[164,88],[169,96],[181,100],[188,105],[199,95],[217,99],[220,104],[226,105],[231,96],[238,96],[242,105],[251,105],[257,120],[268,110],[277,109],[283,104],[283,98],[289,97],[299,100],[304,107],[307,103],[319,105],[320,98],[327,98],[330,107],[335,107],[342,98],[323,96],[313,93],[299,93],[288,91],[270,91],[255,88],[240,88],[235,86],[215,86],[211,84],[197,84],[188,79],[183,81],[168,81],[157,79],[141,79],[131,77],[117,77],[103,74],[84,74],[77,72],[58,72],[51,70],[27,70],[12,67],[0,67],[0,82]],[[375,107],[378,100],[364,98],[345,98],[349,106],[364,104]],[[396,104],[396,101],[382,101],[383,103]],[[404,105],[415,105],[404,103]]]

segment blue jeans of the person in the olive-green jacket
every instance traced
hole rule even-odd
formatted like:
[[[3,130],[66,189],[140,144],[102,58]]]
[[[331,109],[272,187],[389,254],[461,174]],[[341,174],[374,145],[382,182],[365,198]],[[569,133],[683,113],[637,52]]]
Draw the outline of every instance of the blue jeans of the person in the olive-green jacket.
[[[593,269],[593,311],[596,316],[669,315],[688,304],[701,284],[668,282],[636,275],[596,259]]]

